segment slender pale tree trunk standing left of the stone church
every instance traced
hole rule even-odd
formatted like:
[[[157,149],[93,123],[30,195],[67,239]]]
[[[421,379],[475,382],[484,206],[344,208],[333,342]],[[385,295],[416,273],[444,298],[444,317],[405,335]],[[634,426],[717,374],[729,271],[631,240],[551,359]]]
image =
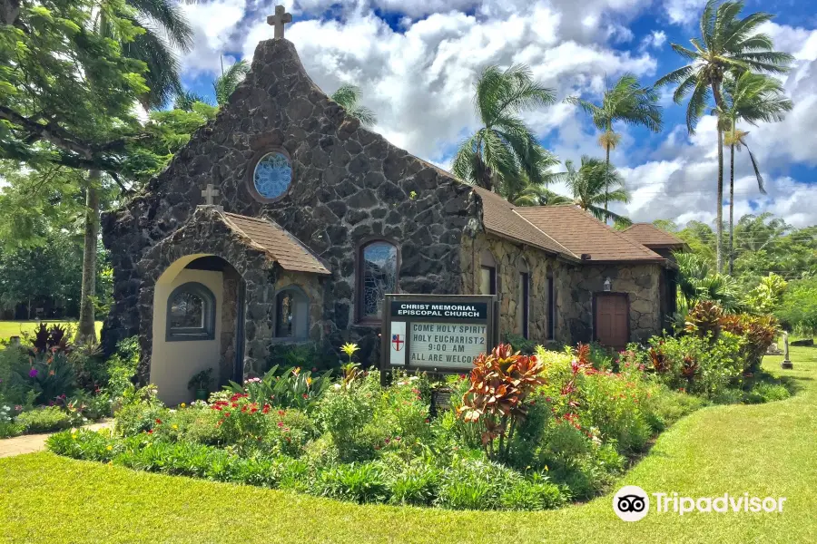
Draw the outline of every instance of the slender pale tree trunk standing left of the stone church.
[[[76,332],[78,343],[96,342],[96,244],[99,237],[99,180],[100,170],[88,173],[88,189],[85,191],[85,245],[83,248],[83,289],[80,299],[80,318]]]

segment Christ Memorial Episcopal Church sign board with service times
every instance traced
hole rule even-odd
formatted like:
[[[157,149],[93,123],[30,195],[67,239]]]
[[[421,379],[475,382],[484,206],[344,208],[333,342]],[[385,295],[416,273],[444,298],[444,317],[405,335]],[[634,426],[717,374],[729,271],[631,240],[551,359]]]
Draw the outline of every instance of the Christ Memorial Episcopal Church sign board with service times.
[[[467,373],[498,341],[495,296],[387,295],[380,369]]]

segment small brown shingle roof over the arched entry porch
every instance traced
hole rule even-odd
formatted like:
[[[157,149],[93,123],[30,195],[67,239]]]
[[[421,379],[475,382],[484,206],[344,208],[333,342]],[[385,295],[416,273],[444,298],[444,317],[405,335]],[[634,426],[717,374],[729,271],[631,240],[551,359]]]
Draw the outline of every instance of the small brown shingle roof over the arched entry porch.
[[[261,248],[284,270],[331,274],[309,248],[274,221],[226,212],[221,215],[228,227],[244,238],[249,238],[252,244]]]

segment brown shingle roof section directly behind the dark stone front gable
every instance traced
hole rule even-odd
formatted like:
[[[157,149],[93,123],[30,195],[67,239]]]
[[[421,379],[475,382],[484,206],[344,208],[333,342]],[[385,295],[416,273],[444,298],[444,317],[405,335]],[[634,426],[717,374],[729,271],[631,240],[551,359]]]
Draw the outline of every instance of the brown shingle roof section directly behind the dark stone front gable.
[[[474,191],[482,198],[482,221],[488,232],[502,238],[511,238],[536,248],[566,257],[578,258],[554,238],[536,228],[527,219],[517,213],[517,208],[497,193],[475,187]]]

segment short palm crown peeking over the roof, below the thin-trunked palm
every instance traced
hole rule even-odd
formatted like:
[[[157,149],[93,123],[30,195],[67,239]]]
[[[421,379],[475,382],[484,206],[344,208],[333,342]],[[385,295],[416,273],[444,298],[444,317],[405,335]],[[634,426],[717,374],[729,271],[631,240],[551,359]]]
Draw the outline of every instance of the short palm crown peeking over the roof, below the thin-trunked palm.
[[[573,203],[600,221],[613,221],[620,225],[629,225],[632,221],[602,207],[606,202],[630,201],[630,193],[625,188],[624,178],[615,170],[607,168],[604,160],[582,157],[582,164],[576,170],[572,160],[565,162],[567,167],[567,187],[573,193]],[[612,189],[612,190],[610,190]]]

